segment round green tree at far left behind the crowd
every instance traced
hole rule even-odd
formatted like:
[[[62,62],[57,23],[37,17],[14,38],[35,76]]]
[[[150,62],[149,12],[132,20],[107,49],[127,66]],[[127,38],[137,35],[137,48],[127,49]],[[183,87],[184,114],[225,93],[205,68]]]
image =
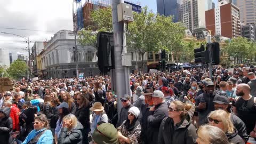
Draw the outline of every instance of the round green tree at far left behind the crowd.
[[[7,68],[7,73],[14,79],[20,79],[26,77],[27,66],[26,62],[20,59],[17,59],[12,62],[11,66]]]

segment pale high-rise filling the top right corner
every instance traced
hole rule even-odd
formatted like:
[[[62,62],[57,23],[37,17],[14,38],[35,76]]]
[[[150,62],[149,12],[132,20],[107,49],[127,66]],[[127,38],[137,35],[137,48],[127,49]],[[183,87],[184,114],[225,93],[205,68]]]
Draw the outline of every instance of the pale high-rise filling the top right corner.
[[[240,9],[240,20],[243,25],[256,23],[256,0],[236,0]]]

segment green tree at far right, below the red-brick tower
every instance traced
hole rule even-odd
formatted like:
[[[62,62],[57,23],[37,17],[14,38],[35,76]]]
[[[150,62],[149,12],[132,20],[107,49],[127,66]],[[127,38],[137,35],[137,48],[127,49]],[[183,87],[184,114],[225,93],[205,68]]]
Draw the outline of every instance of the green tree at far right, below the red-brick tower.
[[[237,37],[231,39],[225,49],[228,55],[234,58],[234,62],[236,64],[242,63],[243,60],[247,59],[247,57],[250,55],[249,53],[252,53],[250,46],[251,42],[249,42],[247,38]]]

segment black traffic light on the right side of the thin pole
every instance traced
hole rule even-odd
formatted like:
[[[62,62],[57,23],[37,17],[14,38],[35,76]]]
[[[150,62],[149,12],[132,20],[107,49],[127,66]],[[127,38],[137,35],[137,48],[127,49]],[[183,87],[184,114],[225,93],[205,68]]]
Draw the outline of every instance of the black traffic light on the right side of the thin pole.
[[[210,51],[212,57],[212,65],[220,64],[220,44],[219,43],[207,43],[206,44],[206,62],[210,62]]]

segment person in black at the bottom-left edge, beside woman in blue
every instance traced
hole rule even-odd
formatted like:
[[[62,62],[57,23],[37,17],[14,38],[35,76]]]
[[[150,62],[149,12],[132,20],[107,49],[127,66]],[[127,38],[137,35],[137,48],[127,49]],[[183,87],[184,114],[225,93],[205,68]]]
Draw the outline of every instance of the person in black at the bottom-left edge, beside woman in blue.
[[[12,132],[12,118],[10,117],[11,108],[5,107],[1,109],[5,117],[0,119],[0,140],[1,144],[8,144],[10,133]]]

